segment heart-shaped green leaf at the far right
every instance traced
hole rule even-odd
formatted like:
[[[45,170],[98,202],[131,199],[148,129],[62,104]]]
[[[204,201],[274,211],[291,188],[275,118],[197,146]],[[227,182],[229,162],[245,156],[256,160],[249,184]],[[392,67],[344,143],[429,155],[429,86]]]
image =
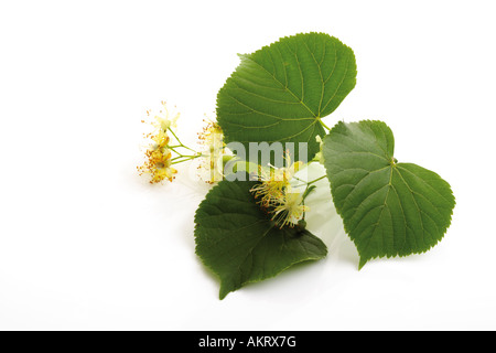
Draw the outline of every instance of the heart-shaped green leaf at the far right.
[[[436,173],[393,158],[392,131],[381,121],[338,122],[324,139],[324,165],[359,268],[375,257],[420,254],[451,224],[455,200]]]

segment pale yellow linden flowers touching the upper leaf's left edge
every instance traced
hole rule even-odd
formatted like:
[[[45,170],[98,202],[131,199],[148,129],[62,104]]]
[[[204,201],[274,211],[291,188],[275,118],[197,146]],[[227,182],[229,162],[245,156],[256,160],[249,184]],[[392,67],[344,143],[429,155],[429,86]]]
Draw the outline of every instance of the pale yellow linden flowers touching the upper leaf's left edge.
[[[198,169],[200,176],[205,182],[213,184],[224,179],[224,135],[220,126],[212,120],[204,120],[207,126],[198,133],[202,145],[202,160]]]

